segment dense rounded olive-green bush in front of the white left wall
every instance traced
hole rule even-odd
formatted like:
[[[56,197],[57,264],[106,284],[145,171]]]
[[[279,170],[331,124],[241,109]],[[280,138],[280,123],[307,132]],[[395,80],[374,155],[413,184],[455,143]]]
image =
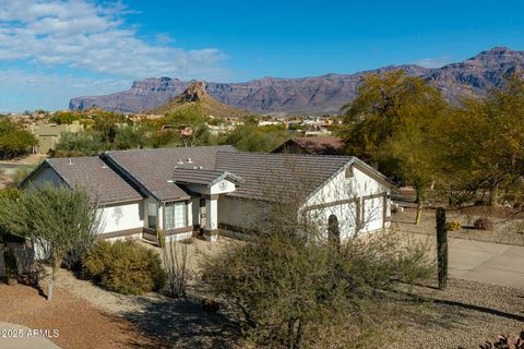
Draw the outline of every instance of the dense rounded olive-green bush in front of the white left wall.
[[[159,255],[134,241],[98,241],[82,265],[86,277],[123,294],[158,291],[166,280]]]

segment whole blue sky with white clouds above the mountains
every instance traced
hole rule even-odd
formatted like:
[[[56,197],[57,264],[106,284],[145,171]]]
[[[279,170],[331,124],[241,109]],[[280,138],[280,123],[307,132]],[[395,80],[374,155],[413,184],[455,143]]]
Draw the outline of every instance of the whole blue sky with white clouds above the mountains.
[[[0,0],[0,112],[133,80],[241,82],[440,67],[524,49],[523,1]]]

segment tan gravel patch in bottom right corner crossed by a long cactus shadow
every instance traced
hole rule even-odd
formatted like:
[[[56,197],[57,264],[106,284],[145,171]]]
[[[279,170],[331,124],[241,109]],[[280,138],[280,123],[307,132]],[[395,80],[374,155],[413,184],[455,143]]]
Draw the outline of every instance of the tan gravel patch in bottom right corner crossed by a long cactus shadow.
[[[499,334],[524,330],[524,291],[450,279],[445,291],[417,287],[430,302],[398,301],[388,321],[388,348],[479,348]]]

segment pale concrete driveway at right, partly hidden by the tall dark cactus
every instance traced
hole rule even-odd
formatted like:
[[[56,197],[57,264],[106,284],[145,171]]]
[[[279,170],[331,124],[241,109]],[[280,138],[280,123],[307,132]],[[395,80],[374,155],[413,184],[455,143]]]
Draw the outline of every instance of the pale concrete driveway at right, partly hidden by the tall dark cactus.
[[[437,237],[414,233],[428,241],[437,255]],[[449,239],[451,277],[524,289],[524,246]]]

